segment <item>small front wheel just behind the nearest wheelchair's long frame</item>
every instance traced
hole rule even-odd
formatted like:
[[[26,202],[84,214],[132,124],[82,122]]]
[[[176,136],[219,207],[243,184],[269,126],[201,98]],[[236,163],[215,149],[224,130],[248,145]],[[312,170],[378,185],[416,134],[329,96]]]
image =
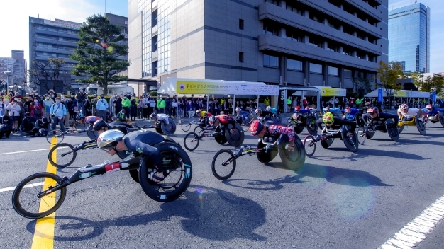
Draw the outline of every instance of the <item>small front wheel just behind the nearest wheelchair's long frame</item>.
[[[74,163],[77,157],[77,151],[74,146],[67,143],[56,144],[50,149],[48,161],[57,168],[65,168]]]

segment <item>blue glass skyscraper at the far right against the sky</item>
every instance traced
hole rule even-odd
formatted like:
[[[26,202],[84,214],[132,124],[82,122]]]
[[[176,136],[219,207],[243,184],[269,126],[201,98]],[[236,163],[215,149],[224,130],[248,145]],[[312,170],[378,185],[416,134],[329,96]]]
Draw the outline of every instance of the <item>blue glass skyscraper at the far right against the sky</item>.
[[[420,3],[389,11],[389,61],[405,72],[430,71],[430,8]]]

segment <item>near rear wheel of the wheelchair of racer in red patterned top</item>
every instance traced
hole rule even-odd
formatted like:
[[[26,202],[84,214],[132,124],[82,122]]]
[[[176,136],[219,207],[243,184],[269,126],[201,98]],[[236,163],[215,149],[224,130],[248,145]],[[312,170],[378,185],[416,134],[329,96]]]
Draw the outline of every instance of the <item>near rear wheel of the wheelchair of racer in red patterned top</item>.
[[[281,135],[279,137],[279,141],[277,142],[279,156],[287,168],[294,171],[300,170],[305,163],[304,144],[302,144],[301,139],[296,136],[294,137],[294,149],[293,151],[289,151],[285,148],[288,143],[289,138],[287,135]]]

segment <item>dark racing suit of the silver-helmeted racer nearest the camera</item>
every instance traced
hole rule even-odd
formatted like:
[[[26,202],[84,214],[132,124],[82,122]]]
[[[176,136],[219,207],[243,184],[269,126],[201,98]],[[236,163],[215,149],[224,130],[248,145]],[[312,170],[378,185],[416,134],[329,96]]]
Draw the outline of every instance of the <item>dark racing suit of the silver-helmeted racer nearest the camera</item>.
[[[160,157],[159,150],[153,147],[153,145],[165,140],[162,135],[151,131],[130,132],[126,134],[122,140],[128,151],[138,152],[148,156],[150,161],[154,163],[157,172],[163,171],[162,158]]]

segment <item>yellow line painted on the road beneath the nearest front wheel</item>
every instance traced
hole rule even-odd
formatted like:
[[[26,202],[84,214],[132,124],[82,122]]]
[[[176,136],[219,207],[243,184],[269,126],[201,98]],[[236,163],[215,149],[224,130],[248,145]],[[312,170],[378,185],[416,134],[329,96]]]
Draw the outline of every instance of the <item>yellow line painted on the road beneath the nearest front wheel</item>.
[[[56,137],[52,137],[50,149],[57,142]],[[52,154],[52,160],[56,162],[57,159],[57,150]],[[49,173],[55,174],[56,168],[52,166],[52,164],[48,161],[46,164],[46,171]],[[43,189],[48,188],[48,185],[52,183],[52,180],[46,179],[45,183],[43,183]],[[54,192],[56,195],[56,192]],[[52,197],[43,197],[43,200],[40,201],[39,212],[45,211],[47,208],[43,207],[42,203],[49,204],[50,206],[55,205],[56,198]],[[54,248],[54,224],[55,224],[55,212],[44,217],[37,219],[37,223],[35,224],[35,231],[33,236],[33,244],[31,245],[31,249],[52,249]]]

